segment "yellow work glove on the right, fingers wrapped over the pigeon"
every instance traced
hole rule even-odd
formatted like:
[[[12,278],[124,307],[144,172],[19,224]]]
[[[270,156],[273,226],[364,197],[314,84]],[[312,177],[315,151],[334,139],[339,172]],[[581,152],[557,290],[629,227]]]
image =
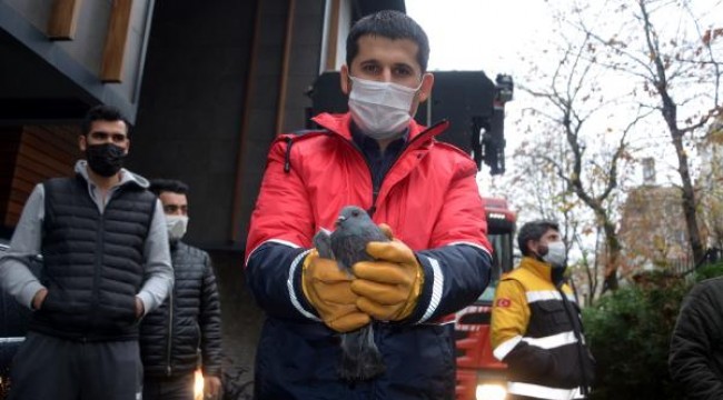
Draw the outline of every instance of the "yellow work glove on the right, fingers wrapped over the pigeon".
[[[382,226],[392,238],[392,231]],[[359,296],[359,310],[384,321],[399,321],[412,314],[424,283],[424,270],[416,256],[399,240],[369,242],[367,253],[376,261],[360,261],[353,270],[357,279],[351,291]]]

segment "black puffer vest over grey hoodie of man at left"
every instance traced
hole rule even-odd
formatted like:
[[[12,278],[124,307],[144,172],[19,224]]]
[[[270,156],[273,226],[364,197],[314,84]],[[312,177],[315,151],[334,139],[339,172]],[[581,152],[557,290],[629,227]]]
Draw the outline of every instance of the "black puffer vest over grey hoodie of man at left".
[[[48,297],[30,330],[81,341],[137,338],[136,294],[156,197],[126,183],[101,214],[81,176],[50,179],[43,189],[40,280]]]

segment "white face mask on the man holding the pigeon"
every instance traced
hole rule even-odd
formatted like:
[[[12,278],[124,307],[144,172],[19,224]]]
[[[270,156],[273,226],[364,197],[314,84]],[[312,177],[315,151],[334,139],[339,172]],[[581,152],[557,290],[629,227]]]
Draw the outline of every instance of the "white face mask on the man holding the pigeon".
[[[407,88],[392,82],[377,82],[349,77],[349,111],[354,123],[373,139],[398,137],[409,124],[414,97],[422,88]]]

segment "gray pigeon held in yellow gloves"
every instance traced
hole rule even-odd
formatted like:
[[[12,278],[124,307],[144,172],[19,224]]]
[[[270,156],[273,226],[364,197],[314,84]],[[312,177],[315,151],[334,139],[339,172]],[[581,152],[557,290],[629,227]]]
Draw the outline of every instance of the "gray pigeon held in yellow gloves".
[[[339,269],[351,272],[358,261],[373,261],[366,252],[370,241],[389,241],[384,232],[356,206],[341,209],[336,221],[336,230],[328,233],[320,230],[314,236],[314,246],[323,258],[336,260]],[[374,342],[373,323],[354,332],[341,333],[341,360],[339,377],[346,381],[372,379],[385,371],[384,359]]]

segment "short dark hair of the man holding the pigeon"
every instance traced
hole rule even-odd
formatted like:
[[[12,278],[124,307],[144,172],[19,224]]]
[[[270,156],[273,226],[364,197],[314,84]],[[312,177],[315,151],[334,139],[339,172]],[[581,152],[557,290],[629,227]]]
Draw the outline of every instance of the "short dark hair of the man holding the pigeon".
[[[351,61],[359,53],[359,38],[379,36],[392,40],[408,39],[417,44],[417,62],[422,72],[427,71],[429,60],[429,40],[427,33],[412,18],[400,11],[383,10],[358,20],[346,38],[346,64],[351,68]]]

